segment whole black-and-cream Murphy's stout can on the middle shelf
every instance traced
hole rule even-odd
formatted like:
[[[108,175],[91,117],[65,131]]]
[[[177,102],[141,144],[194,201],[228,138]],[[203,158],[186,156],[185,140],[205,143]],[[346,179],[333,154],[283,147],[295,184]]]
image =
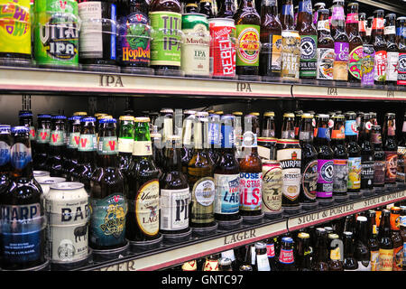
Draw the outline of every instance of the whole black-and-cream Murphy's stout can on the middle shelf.
[[[301,149],[298,140],[279,139],[276,159],[282,170],[282,207],[298,207],[300,194]]]

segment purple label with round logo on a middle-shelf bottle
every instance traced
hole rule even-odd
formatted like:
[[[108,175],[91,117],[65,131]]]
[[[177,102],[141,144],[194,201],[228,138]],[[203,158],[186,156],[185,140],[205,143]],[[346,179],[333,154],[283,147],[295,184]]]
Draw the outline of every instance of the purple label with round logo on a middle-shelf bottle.
[[[333,196],[333,160],[318,159],[318,198]]]

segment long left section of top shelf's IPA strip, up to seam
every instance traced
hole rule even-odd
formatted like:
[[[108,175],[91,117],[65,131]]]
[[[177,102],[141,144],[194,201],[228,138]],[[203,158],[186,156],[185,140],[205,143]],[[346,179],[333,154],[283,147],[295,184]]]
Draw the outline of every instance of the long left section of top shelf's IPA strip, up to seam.
[[[0,68],[0,90],[291,98],[283,84],[9,68]]]

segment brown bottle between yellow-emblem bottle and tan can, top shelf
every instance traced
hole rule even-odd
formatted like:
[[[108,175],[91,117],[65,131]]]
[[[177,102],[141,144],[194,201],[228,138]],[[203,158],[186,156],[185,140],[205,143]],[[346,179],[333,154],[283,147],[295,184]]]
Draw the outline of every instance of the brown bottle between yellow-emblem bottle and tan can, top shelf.
[[[260,74],[263,77],[281,77],[281,21],[276,0],[263,0],[261,6]],[[263,78],[266,80],[265,78]]]

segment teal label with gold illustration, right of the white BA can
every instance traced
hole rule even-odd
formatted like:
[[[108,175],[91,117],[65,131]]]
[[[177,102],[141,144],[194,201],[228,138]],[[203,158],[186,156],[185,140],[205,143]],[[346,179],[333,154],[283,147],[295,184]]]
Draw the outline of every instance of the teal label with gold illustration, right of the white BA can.
[[[100,247],[125,243],[125,215],[127,203],[122,193],[114,193],[104,199],[89,200],[91,215],[90,242]]]

